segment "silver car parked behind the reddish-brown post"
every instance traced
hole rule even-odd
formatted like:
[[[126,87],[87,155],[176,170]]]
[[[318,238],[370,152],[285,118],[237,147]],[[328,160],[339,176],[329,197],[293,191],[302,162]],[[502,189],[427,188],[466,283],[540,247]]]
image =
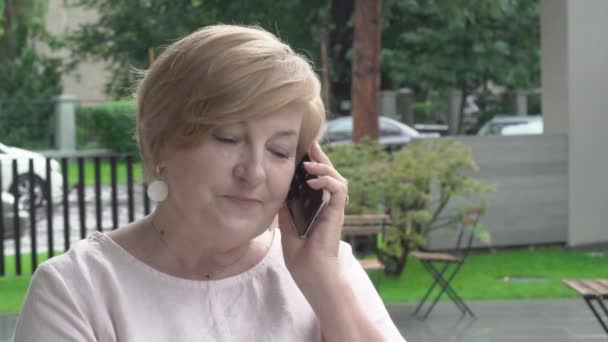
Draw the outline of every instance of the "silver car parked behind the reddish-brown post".
[[[415,139],[439,137],[438,133],[420,133],[395,119],[380,116],[378,142],[389,150],[402,147]],[[350,144],[353,140],[353,118],[342,116],[327,122],[321,141],[329,146]]]

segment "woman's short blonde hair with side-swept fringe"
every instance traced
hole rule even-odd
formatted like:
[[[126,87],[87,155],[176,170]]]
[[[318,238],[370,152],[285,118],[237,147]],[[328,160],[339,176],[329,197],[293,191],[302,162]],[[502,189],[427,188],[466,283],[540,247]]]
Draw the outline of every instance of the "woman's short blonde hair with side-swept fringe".
[[[299,159],[325,122],[311,63],[258,27],[199,29],[167,47],[142,76],[136,137],[146,181],[156,178],[162,148],[200,144],[220,125],[295,105],[304,113]]]

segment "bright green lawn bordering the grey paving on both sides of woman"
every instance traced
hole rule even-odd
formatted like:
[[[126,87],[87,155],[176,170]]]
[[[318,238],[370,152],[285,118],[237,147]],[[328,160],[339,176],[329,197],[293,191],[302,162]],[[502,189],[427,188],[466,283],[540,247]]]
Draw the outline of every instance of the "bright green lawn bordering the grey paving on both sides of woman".
[[[46,259],[40,254],[39,260]],[[27,274],[29,256],[24,255],[23,272]],[[9,276],[0,278],[0,312],[19,311],[30,277],[14,274],[14,259],[7,257]],[[542,277],[542,282],[504,281],[505,277]],[[561,283],[562,278],[608,278],[608,250],[601,256],[558,247],[539,249],[473,252],[452,285],[465,300],[564,298],[577,295]],[[373,275],[380,296],[386,303],[416,302],[431,284],[431,277],[415,259],[410,258],[399,278]],[[442,297],[446,299],[447,297]]]

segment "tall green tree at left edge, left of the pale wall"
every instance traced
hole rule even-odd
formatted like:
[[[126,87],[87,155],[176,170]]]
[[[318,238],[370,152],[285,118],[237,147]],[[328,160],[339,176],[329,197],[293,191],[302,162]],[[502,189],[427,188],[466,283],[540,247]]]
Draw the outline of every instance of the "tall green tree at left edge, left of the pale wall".
[[[46,1],[0,0],[0,136],[25,148],[49,148],[54,98],[61,94],[61,61],[45,57],[34,41],[54,45],[44,30]]]

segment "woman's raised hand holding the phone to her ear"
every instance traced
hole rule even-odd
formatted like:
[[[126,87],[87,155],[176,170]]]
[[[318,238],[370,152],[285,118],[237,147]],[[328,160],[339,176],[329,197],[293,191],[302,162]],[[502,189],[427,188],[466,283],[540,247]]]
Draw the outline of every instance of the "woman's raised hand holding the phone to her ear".
[[[287,268],[300,287],[319,276],[335,276],[339,271],[338,250],[344,207],[348,196],[348,182],[334,168],[317,142],[309,151],[312,162],[305,163],[306,171],[318,178],[308,181],[313,189],[330,193],[328,205],[317,217],[306,240],[299,239],[291,226],[286,207],[279,210],[283,255]]]

